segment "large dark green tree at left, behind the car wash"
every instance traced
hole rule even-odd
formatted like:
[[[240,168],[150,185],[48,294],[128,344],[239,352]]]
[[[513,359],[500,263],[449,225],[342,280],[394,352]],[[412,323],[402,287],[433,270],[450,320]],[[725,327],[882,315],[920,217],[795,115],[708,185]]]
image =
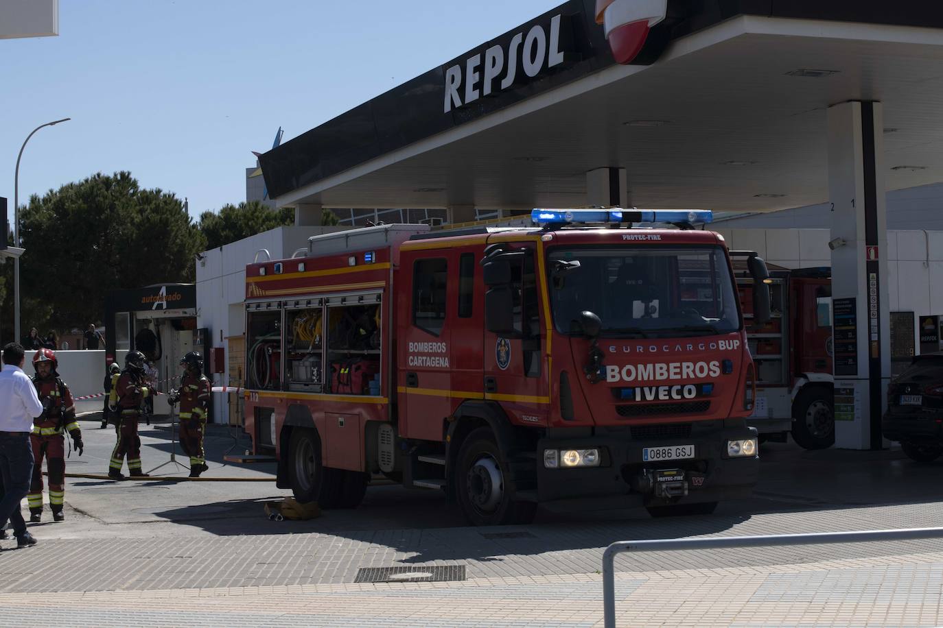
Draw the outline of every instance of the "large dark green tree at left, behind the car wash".
[[[192,282],[193,256],[206,250],[183,202],[141,189],[129,172],[32,196],[21,210],[21,237],[23,330],[84,328],[102,319],[110,290]]]

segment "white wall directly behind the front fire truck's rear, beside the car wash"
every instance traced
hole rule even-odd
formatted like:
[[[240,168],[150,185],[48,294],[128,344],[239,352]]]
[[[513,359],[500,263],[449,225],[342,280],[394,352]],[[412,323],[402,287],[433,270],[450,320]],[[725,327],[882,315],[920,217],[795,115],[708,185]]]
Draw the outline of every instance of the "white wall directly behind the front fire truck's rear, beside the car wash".
[[[291,257],[294,251],[307,250],[307,238],[320,233],[344,231],[341,227],[278,227],[264,233],[207,250],[204,259],[196,263],[196,318],[197,327],[207,328],[213,339],[212,346],[227,351],[229,336],[245,332],[242,302],[245,298],[245,266],[252,264],[256,251],[266,249],[273,260]],[[266,259],[259,255],[259,261]],[[228,353],[226,372],[213,376],[213,384],[228,384]],[[228,401],[231,395],[214,394],[214,423],[228,422]],[[223,403],[220,403],[223,401]]]

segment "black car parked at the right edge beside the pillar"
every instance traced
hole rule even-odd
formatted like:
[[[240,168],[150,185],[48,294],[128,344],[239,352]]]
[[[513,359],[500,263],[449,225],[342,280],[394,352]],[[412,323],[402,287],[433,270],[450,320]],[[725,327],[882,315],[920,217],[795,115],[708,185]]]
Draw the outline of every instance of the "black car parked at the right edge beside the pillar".
[[[915,357],[891,380],[881,427],[911,459],[930,462],[943,454],[943,353]]]

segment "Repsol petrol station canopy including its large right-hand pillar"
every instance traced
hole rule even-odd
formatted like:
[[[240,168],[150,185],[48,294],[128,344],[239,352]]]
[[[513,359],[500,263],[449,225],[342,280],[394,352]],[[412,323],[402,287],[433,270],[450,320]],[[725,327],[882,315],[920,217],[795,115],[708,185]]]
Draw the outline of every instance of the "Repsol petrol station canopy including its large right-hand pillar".
[[[849,356],[835,386],[854,399],[836,444],[866,449],[890,374],[885,193],[943,181],[941,61],[943,6],[921,0],[570,0],[260,164],[299,226],[322,207],[440,207],[455,223],[818,206]]]

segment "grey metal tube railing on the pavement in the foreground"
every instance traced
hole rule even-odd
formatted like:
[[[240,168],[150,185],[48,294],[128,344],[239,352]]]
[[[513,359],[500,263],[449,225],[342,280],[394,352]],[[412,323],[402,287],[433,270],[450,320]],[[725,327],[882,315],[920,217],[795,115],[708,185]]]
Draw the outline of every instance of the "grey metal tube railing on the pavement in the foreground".
[[[717,550],[732,547],[776,545],[822,545],[827,543],[868,543],[887,540],[943,539],[943,527],[865,532],[825,532],[766,537],[711,537],[709,539],[620,540],[603,553],[603,619],[605,628],[616,628],[616,555],[623,552],[664,552],[676,550]]]

